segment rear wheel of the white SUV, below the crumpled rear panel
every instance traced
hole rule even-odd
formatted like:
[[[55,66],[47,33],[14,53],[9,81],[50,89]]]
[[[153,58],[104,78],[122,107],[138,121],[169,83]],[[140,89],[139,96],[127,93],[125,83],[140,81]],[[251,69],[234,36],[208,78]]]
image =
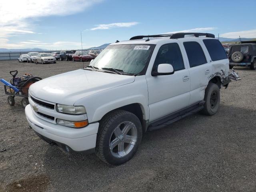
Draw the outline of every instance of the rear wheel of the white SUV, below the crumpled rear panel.
[[[220,88],[217,84],[209,83],[204,94],[204,109],[202,113],[205,115],[214,115],[220,106]]]

